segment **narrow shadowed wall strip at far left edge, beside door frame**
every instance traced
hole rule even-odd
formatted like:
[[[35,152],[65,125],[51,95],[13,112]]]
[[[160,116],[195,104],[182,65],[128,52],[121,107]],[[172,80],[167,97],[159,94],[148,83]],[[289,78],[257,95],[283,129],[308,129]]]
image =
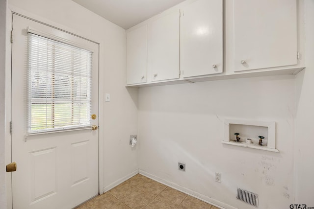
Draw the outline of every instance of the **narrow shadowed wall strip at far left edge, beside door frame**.
[[[5,28],[7,1],[0,0],[0,208],[6,208],[5,172]]]

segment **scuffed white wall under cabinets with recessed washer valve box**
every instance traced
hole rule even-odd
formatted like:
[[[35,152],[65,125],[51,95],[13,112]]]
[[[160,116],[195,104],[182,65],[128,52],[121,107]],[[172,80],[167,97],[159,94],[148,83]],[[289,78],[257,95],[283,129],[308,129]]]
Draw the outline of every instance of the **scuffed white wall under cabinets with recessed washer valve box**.
[[[240,187],[260,195],[259,208],[288,208],[294,85],[292,76],[272,76],[139,89],[140,170],[216,204],[251,209],[235,199]],[[276,121],[280,153],[222,144],[224,118]],[[186,163],[185,173],[178,162]]]

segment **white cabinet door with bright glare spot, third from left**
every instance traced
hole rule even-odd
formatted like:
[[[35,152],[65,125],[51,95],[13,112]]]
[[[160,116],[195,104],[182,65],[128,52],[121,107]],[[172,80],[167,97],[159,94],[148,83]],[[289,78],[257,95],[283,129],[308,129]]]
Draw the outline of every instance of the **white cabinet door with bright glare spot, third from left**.
[[[222,0],[197,0],[183,8],[180,67],[184,78],[223,71],[222,6]]]

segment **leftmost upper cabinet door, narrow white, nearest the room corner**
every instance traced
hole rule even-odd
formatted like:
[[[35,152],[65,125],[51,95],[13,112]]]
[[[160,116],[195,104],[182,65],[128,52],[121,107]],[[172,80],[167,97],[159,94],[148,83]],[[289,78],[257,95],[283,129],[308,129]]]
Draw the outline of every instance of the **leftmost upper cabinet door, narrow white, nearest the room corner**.
[[[147,25],[127,33],[127,84],[147,82]]]

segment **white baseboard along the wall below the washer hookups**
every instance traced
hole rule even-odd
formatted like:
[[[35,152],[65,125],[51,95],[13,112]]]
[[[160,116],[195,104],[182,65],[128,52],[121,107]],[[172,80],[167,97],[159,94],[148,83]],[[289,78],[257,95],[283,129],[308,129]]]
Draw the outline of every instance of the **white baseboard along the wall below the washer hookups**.
[[[139,169],[139,170],[138,170],[138,173],[141,174],[141,175],[143,175],[143,176],[146,176],[146,177],[148,177],[148,178],[150,178],[150,179],[153,179],[153,180],[155,180],[155,181],[157,181],[157,182],[159,182],[159,183],[161,183],[161,184],[163,184],[163,185],[166,185],[166,186],[169,186],[169,187],[171,187],[171,188],[177,189],[177,190],[179,190],[179,191],[181,191],[181,192],[183,192],[183,193],[185,193],[185,194],[188,194],[188,195],[190,195],[190,196],[192,196],[192,197],[195,197],[195,198],[197,198],[197,199],[199,199],[199,200],[202,200],[202,201],[204,201],[204,202],[206,202],[206,203],[209,203],[210,205],[213,205],[213,206],[215,206],[215,207],[217,207],[217,208],[220,208],[220,209],[236,209],[236,208],[233,207],[233,206],[230,206],[230,205],[228,205],[228,204],[225,204],[225,203],[223,203],[223,202],[220,202],[220,201],[218,201],[218,200],[215,200],[215,199],[213,199],[213,198],[211,198],[211,197],[208,197],[208,196],[205,196],[205,195],[203,195],[203,194],[200,194],[200,193],[198,193],[198,192],[196,192],[196,191],[193,191],[193,190],[191,190],[191,189],[188,189],[188,188],[185,188],[185,187],[183,187],[183,186],[177,185],[177,184],[172,183],[172,182],[170,182],[170,181],[161,179],[161,178],[159,178],[159,177],[157,177],[157,176],[155,176],[155,175],[153,175],[153,174],[150,174],[150,173],[148,173],[148,172],[146,172],[146,171],[143,171],[143,170],[140,170],[140,169]]]

